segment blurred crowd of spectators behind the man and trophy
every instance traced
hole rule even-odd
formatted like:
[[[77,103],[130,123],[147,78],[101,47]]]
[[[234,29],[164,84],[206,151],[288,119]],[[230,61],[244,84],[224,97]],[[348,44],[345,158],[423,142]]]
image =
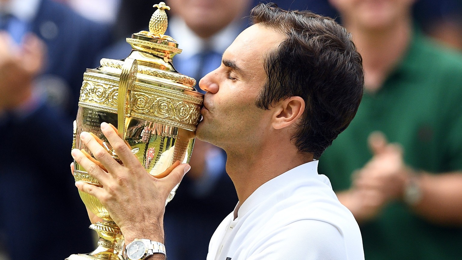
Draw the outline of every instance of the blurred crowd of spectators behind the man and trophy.
[[[174,65],[199,81],[259,1],[165,2],[166,34],[183,50]],[[336,19],[363,56],[365,97],[319,172],[358,220],[366,260],[460,259],[462,2],[273,2]],[[96,247],[69,168],[82,74],[103,57],[127,57],[125,38],[147,30],[156,3],[0,0],[0,260],[64,259]],[[225,160],[196,143],[166,209],[169,260],[205,259],[237,203]]]

